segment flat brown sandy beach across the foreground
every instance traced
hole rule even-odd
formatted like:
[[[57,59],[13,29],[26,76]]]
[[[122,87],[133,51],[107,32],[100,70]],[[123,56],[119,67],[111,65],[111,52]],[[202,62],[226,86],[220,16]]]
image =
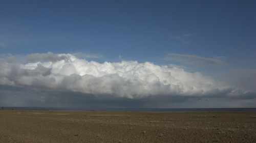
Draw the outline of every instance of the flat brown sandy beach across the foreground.
[[[256,142],[256,112],[0,110],[0,142]]]

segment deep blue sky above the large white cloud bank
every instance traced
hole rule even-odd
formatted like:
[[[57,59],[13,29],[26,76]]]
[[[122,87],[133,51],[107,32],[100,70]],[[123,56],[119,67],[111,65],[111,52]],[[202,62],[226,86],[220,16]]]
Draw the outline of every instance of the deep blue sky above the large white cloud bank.
[[[175,65],[247,85],[237,82],[249,77],[236,77],[256,75],[255,6],[255,1],[1,1],[0,53]]]

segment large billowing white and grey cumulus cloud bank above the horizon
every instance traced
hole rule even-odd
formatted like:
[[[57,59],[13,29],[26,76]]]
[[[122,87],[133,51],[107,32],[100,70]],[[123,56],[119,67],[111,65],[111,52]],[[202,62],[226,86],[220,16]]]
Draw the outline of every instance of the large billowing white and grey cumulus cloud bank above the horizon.
[[[25,59],[22,62],[13,56],[1,59],[0,84],[130,99],[229,95],[236,90],[199,72],[150,62],[97,63],[73,54],[51,52],[30,54]]]

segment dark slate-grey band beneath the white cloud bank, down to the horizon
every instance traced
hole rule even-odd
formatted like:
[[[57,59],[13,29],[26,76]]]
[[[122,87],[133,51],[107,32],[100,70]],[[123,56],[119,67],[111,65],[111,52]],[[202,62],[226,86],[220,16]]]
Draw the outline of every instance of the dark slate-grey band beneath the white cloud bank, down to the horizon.
[[[246,104],[234,104],[249,101]],[[0,106],[77,107],[77,108],[214,108],[255,107],[256,94],[231,98],[227,96],[191,97],[158,95],[143,98],[121,98],[72,91],[37,90],[0,85]],[[234,106],[235,105],[235,106]]]

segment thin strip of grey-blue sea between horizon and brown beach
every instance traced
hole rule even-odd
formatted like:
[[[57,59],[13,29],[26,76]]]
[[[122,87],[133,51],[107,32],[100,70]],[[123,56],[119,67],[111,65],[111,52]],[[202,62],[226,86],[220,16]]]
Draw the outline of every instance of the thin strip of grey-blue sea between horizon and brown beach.
[[[256,112],[256,108],[59,108],[59,107],[3,107],[14,110],[55,111],[113,111],[113,112]]]

